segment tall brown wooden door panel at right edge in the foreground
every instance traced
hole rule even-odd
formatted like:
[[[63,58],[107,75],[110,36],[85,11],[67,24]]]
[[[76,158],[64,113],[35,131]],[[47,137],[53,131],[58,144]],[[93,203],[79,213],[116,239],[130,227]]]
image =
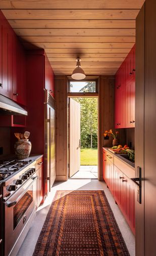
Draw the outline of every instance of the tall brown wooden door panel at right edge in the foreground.
[[[155,13],[155,0],[146,0],[136,19],[135,162],[142,176],[141,204],[136,201],[136,256],[155,255]]]

